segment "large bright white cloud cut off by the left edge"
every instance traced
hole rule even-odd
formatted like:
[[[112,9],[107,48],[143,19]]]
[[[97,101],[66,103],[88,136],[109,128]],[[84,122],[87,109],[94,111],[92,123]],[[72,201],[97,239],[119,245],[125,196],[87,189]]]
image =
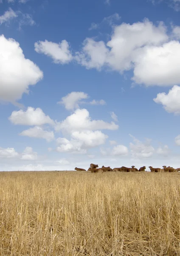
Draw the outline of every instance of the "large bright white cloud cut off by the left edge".
[[[0,100],[14,103],[43,77],[34,62],[25,59],[14,39],[0,35]]]

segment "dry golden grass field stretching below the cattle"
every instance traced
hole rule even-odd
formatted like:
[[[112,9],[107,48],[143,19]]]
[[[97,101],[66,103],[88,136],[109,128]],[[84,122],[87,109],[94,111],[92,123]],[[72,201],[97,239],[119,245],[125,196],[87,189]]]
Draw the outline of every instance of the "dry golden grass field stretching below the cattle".
[[[5,255],[180,255],[180,174],[1,172]]]

